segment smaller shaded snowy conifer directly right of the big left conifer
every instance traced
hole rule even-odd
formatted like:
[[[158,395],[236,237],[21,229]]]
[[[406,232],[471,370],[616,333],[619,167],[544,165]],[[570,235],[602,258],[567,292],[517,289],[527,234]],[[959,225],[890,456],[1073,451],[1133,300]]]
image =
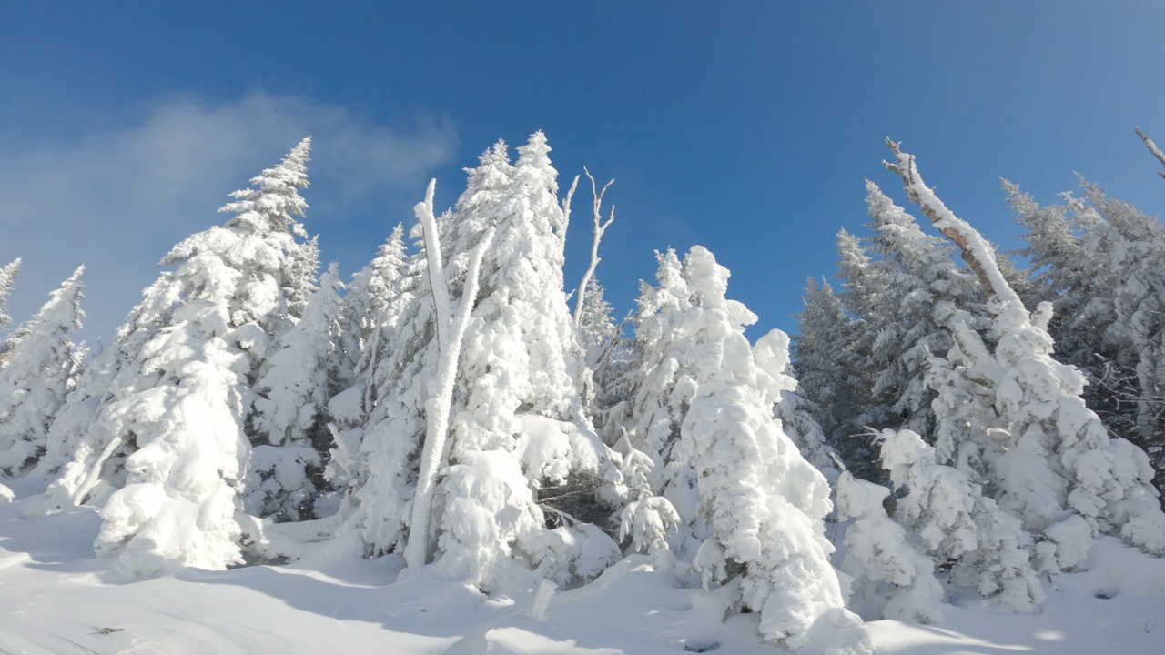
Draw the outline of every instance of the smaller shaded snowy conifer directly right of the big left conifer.
[[[276,339],[267,372],[255,383],[252,455],[243,507],[255,516],[297,521],[317,515],[327,491],[324,457],[332,446],[327,401],[340,382],[339,269],[332,263],[303,309]]]

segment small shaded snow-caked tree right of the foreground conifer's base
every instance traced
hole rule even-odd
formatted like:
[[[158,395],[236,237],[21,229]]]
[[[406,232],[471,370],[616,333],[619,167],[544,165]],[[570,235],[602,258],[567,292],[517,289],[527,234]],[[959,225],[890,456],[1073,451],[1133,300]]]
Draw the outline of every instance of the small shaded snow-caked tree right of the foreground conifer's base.
[[[838,479],[839,519],[854,520],[846,528],[847,551],[839,566],[854,578],[850,604],[868,619],[941,624],[942,585],[934,577],[934,562],[887,516],[883,501],[889,494],[848,471]]]

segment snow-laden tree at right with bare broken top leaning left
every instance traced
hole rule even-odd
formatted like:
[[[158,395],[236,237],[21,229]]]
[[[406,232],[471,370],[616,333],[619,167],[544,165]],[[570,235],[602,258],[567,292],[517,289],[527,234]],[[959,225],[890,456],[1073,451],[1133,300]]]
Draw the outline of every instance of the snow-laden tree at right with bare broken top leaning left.
[[[962,312],[948,312],[947,326],[958,345],[952,357],[993,401],[997,418],[986,428],[997,452],[975,455],[986,457],[1000,507],[1021,516],[1024,529],[1042,540],[1036,548],[1045,570],[1076,565],[1088,533],[1097,530],[1165,552],[1165,514],[1149,484],[1149,458],[1109,437],[1081,399],[1083,375],[1052,359],[1051,308],[1029,312],[979,232],[923,183],[912,156],[895,143],[891,149],[895,162],[888,168],[902,177],[911,202],[960,247],[988,297],[994,348]],[[1081,531],[1081,521],[1090,529]]]

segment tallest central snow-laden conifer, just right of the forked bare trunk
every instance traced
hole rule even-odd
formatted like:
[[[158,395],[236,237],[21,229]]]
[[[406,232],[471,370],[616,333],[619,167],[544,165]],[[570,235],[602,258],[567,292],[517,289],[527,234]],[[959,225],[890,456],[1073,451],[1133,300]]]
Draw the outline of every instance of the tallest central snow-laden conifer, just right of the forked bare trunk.
[[[457,287],[473,247],[489,227],[496,231],[463,351],[463,394],[451,422],[454,465],[440,487],[438,541],[445,575],[485,587],[522,557],[545,575],[566,575],[559,582],[570,578],[564,571],[573,571],[582,554],[567,554],[559,542],[573,541],[577,550],[584,533],[546,531],[544,512],[567,524],[599,519],[606,512],[574,514],[595,506],[591,490],[617,479],[582,406],[587,369],[563,291],[566,216],[549,152],[538,132],[518,148],[513,167],[504,143],[487,153],[443,239],[451,253],[447,279]],[[584,502],[572,505],[572,498]],[[478,529],[483,516],[494,517],[488,533]],[[614,543],[602,540],[592,548],[617,557]]]

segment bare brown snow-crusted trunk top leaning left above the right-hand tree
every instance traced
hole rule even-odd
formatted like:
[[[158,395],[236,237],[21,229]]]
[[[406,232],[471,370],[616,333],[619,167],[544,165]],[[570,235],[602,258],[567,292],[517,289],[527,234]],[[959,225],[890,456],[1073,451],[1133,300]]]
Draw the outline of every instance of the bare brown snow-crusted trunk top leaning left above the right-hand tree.
[[[1005,304],[1022,308],[1023,302],[1008,284],[995,262],[990,244],[969,223],[948,210],[942,200],[934,195],[934,191],[923,183],[923,178],[918,175],[918,168],[915,165],[913,155],[903,153],[898,148],[899,143],[889,139],[885,140],[885,145],[894,152],[895,161],[892,163],[882,162],[882,165],[902,177],[903,185],[906,188],[906,199],[917,204],[923,214],[934,224],[934,227],[959,246],[963,261],[975,272],[975,277],[983,287],[987,298],[995,298]]]

